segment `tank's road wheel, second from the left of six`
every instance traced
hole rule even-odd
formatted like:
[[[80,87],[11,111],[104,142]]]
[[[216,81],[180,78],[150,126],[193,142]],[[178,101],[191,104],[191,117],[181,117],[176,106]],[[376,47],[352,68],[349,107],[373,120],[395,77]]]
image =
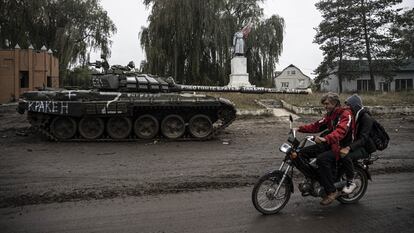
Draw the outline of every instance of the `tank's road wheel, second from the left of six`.
[[[86,139],[99,138],[105,130],[105,123],[99,117],[84,117],[79,122],[79,133]]]

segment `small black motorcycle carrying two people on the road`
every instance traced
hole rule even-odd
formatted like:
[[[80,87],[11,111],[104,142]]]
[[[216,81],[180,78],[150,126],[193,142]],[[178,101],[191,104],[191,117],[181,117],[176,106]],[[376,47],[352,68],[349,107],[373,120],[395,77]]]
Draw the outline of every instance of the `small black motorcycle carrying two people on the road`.
[[[288,134],[288,143],[283,143],[279,150],[285,153],[282,164],[278,170],[271,171],[262,177],[254,185],[252,191],[252,201],[254,207],[265,215],[276,214],[282,210],[293,193],[293,169],[297,168],[305,177],[302,183],[299,183],[298,189],[302,196],[324,197],[326,192],[320,185],[319,175],[317,171],[316,158],[307,159],[298,156],[300,163],[291,158],[292,152],[298,152],[309,144],[315,144],[314,136],[306,136],[299,141],[296,137],[296,131],[292,128],[293,118],[289,116],[290,131]],[[371,180],[369,165],[378,159],[376,155],[369,155],[368,158],[354,160],[354,183],[356,188],[350,194],[342,192],[346,185],[344,169],[340,162],[334,169],[335,187],[339,190],[340,195],[337,201],[343,204],[352,204],[359,201],[368,188],[368,180]],[[300,164],[300,166],[299,166]]]

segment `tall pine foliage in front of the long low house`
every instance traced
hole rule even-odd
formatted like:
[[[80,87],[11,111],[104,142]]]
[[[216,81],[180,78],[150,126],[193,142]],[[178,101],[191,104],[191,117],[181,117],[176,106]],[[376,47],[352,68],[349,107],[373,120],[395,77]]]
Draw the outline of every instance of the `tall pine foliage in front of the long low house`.
[[[371,77],[371,90],[375,90],[375,75],[391,81],[393,71],[406,58],[406,54],[401,56],[401,49],[396,49],[401,38],[399,29],[394,27],[392,33],[392,25],[401,11],[395,6],[401,1],[319,1],[316,7],[324,19],[317,28],[315,43],[320,44],[324,60],[315,71],[315,81],[320,84],[330,74],[335,74],[341,84],[344,78],[353,79],[363,72],[368,72]],[[367,69],[361,69],[361,62],[355,62],[363,59]],[[342,91],[342,87],[339,88]]]

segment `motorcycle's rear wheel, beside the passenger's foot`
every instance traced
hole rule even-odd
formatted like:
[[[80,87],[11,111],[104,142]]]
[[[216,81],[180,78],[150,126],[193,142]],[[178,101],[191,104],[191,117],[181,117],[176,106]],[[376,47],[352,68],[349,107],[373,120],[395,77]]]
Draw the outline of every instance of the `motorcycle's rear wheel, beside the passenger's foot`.
[[[342,204],[353,204],[358,202],[367,191],[368,177],[365,171],[360,167],[355,167],[354,182],[357,185],[357,187],[351,194],[341,195],[337,198],[337,200]]]

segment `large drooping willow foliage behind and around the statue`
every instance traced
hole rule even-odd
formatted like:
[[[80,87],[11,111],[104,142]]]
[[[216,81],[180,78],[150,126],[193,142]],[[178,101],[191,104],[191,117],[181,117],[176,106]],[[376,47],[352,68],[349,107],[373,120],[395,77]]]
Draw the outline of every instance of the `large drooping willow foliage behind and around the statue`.
[[[148,27],[140,33],[147,56],[143,70],[173,76],[181,83],[226,84],[233,34],[252,22],[255,28],[250,37],[256,39],[248,39],[248,71],[251,73],[258,65],[266,70],[264,76],[263,72],[254,72],[253,83],[269,78],[282,48],[283,20],[277,16],[262,20],[259,2],[145,0],[151,14]],[[260,59],[253,58],[256,56]]]

